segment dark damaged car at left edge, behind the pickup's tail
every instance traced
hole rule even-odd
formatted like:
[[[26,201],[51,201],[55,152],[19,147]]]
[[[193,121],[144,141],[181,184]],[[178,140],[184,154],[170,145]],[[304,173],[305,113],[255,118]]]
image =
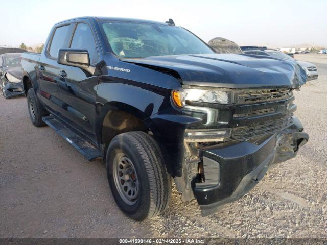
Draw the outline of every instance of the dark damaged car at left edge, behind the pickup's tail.
[[[24,94],[22,88],[22,53],[0,55],[0,87],[6,99]]]

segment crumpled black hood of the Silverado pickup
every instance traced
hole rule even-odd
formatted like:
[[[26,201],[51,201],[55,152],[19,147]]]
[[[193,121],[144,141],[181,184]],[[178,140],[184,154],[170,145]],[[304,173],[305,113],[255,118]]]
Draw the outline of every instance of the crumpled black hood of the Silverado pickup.
[[[184,85],[222,88],[298,88],[307,80],[296,61],[249,54],[197,54],[121,59],[178,73]]]

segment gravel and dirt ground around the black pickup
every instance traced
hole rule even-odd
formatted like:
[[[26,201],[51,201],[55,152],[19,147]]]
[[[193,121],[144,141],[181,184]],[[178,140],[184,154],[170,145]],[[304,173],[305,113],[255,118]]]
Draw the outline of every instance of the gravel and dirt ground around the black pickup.
[[[51,128],[32,126],[25,97],[0,96],[0,237],[327,238],[327,55],[319,80],[295,92],[310,140],[237,202],[201,217],[176,189],[169,210],[133,222],[116,207],[105,167],[88,162]]]

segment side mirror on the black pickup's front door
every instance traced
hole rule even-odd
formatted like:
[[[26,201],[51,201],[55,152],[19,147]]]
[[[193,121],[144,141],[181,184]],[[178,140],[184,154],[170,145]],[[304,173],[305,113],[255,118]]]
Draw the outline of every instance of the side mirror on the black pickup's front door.
[[[88,68],[90,59],[87,50],[74,50],[72,48],[61,48],[58,52],[58,64]]]

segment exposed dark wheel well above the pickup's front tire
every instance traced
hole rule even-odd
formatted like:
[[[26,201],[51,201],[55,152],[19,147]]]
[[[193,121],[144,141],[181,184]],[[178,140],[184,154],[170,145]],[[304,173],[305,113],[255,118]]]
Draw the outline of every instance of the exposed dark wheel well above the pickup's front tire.
[[[110,141],[116,135],[130,131],[143,131],[148,133],[149,128],[144,122],[125,111],[111,110],[102,122],[101,141],[107,149]]]

